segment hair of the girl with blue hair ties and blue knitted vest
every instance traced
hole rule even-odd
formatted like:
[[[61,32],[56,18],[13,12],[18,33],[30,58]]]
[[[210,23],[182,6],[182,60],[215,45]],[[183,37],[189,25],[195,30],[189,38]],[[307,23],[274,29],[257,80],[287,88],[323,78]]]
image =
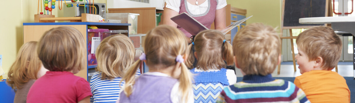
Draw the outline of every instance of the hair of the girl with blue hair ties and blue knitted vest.
[[[223,60],[227,62],[227,65],[233,65],[232,45],[224,40],[224,35],[218,30],[205,30],[198,33],[193,41],[197,53],[196,67],[203,70],[225,68],[226,64]],[[195,61],[192,45],[188,47],[190,53],[186,63],[190,68],[193,68]]]

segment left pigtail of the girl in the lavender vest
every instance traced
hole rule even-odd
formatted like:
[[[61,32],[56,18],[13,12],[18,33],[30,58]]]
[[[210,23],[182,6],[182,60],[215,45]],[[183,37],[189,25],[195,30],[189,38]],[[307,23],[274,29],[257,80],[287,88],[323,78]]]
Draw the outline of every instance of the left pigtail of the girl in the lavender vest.
[[[122,80],[120,82],[120,85],[121,85],[123,80],[126,81],[124,92],[127,97],[129,97],[132,94],[132,87],[135,84],[135,75],[136,75],[138,66],[140,66],[141,62],[142,62],[141,60],[137,60],[136,62],[134,62],[127,69],[125,76],[122,78]]]

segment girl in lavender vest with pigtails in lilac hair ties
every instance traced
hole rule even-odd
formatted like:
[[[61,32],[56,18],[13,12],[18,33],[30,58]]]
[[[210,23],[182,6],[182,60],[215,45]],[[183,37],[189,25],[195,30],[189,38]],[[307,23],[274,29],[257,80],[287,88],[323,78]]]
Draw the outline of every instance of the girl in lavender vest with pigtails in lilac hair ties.
[[[129,67],[119,103],[193,103],[192,76],[184,61],[187,41],[176,28],[160,25],[147,33],[140,60]],[[135,79],[141,61],[149,72]]]

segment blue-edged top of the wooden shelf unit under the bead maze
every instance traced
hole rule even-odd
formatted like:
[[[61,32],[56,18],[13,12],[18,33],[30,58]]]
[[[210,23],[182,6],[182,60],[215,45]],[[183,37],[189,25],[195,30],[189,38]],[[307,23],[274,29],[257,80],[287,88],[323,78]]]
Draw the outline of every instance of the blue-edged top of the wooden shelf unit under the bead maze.
[[[131,24],[126,24],[126,23],[99,23],[99,22],[23,23],[23,25],[117,25],[117,26],[131,26]]]

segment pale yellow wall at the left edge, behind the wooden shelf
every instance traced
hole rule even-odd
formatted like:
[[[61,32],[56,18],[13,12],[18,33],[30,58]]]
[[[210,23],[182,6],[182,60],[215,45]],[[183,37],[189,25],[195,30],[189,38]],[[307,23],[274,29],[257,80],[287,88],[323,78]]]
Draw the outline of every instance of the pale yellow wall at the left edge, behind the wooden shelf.
[[[14,1],[2,0],[2,3],[13,4]],[[106,0],[95,0],[95,3],[106,3]],[[5,79],[7,78],[7,72],[9,72],[10,66],[16,59],[18,50],[23,44],[22,23],[34,22],[34,14],[37,14],[38,0],[20,0],[16,1],[15,4],[16,5],[0,6],[0,55],[3,57],[2,68],[5,72]],[[63,11],[59,10],[58,5],[59,2],[56,1],[55,9],[52,11],[52,14],[54,14],[55,17],[63,17]],[[66,7],[65,5],[63,6]],[[44,10],[42,11],[44,12]]]

